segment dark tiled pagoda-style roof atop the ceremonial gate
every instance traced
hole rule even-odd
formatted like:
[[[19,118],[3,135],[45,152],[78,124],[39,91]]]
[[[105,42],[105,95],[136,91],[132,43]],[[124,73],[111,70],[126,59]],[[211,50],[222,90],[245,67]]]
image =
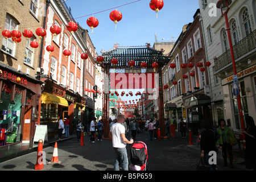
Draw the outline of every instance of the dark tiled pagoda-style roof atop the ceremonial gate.
[[[103,52],[102,56],[104,57],[104,61],[101,65],[115,69],[141,69],[141,62],[147,63],[147,69],[152,68],[152,63],[154,62],[158,63],[159,67],[164,67],[171,60],[171,56],[164,56],[163,51],[157,51],[149,46],[136,48],[115,47]],[[118,64],[115,66],[111,63],[113,58],[118,60]],[[135,61],[133,68],[128,64],[130,60]]]

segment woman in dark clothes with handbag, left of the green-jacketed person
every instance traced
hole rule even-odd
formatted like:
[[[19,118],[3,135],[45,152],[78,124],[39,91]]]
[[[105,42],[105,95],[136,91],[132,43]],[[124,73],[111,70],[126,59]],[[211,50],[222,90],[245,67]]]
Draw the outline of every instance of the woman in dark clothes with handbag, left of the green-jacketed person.
[[[214,171],[214,166],[209,164],[209,152],[216,150],[214,131],[210,127],[210,121],[208,121],[208,119],[203,119],[201,121],[201,128],[203,129],[200,140],[201,158],[203,158],[204,164],[210,167],[210,171]]]

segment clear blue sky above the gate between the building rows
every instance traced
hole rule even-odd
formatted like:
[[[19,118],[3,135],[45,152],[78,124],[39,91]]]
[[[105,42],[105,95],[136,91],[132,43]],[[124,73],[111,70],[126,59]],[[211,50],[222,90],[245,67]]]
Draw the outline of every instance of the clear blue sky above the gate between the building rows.
[[[159,11],[156,18],[155,11],[150,9],[150,0],[65,1],[67,6],[71,7],[76,22],[88,29],[99,55],[101,55],[101,49],[108,51],[115,43],[119,46],[144,46],[150,43],[153,46],[155,33],[158,35],[158,42],[162,42],[162,39],[164,39],[163,42],[169,42],[172,36],[176,40],[183,26],[193,22],[193,15],[199,9],[199,1],[164,0],[163,2],[163,9]],[[127,3],[130,4],[126,5]],[[117,23],[116,30],[114,22],[109,18],[110,12],[115,10],[115,7],[118,7],[117,10],[123,15],[122,20]],[[104,12],[98,13],[100,11]],[[83,17],[80,18],[81,16]],[[98,27],[94,28],[93,32],[86,24],[90,16],[95,16],[99,21]]]

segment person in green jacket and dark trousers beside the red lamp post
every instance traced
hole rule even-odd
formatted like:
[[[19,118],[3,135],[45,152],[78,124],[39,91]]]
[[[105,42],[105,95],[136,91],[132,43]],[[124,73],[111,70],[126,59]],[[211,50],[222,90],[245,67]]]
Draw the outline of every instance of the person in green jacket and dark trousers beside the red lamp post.
[[[234,134],[230,127],[226,126],[226,122],[224,119],[218,120],[218,127],[217,131],[218,134],[220,134],[220,138],[217,140],[217,147],[222,147],[222,156],[224,159],[224,166],[228,166],[227,163],[227,155],[226,152],[229,154],[229,167],[233,168],[233,152],[232,152],[232,145],[230,144],[229,135],[233,138],[233,140],[236,142],[236,138],[234,137]]]

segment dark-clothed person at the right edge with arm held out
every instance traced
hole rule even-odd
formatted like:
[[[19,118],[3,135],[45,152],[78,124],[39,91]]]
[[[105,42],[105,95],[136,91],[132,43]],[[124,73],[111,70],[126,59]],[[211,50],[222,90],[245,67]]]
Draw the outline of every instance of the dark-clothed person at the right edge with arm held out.
[[[256,171],[256,126],[254,123],[254,119],[251,116],[245,117],[246,129],[238,130],[240,133],[245,134],[246,141],[246,163],[251,163],[251,167],[254,171]]]

